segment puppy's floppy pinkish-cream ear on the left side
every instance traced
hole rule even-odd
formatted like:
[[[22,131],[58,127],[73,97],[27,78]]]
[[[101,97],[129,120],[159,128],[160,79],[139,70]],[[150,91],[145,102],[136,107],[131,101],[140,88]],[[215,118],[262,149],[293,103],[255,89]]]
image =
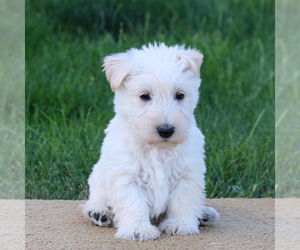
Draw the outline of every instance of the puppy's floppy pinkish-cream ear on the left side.
[[[105,71],[112,91],[121,85],[130,69],[130,58],[126,53],[113,54],[104,58],[103,71]]]

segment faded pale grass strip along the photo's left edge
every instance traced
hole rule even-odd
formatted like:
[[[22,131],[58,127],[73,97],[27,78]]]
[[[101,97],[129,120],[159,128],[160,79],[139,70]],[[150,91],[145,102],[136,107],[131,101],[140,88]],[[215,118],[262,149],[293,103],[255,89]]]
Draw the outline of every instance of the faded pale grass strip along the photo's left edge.
[[[23,12],[19,1],[0,5],[0,199],[25,197]]]

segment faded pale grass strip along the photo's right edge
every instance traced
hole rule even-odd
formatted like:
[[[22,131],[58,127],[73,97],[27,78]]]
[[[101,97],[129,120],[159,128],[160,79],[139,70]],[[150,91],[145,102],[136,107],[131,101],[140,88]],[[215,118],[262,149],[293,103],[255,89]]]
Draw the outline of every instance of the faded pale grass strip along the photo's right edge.
[[[276,8],[276,197],[300,198],[300,3]]]

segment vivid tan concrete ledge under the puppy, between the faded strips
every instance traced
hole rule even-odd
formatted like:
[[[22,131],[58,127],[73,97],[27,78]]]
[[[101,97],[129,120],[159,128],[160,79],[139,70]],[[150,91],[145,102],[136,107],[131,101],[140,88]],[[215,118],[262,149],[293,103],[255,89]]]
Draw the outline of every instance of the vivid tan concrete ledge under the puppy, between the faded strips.
[[[167,236],[153,242],[116,239],[116,228],[89,224],[83,201],[26,200],[26,249],[274,249],[275,200],[213,199],[220,220],[199,235]]]

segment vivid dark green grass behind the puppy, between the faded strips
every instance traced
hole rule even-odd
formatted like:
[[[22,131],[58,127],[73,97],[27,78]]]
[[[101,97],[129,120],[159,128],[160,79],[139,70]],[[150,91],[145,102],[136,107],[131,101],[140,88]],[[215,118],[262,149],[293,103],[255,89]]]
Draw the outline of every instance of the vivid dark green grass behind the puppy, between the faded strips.
[[[114,115],[103,57],[153,41],[204,54],[207,196],[274,197],[274,2],[93,2],[27,2],[26,197],[87,198]]]

